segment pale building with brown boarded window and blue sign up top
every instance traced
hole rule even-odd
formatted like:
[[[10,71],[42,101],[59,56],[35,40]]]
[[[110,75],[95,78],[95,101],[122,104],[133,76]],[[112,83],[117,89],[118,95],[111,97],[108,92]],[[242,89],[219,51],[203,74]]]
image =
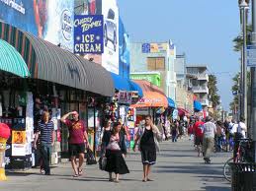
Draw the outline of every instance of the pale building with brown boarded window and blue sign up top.
[[[166,96],[176,99],[174,60],[176,47],[171,41],[132,42],[130,44],[130,73],[159,72],[161,88]]]

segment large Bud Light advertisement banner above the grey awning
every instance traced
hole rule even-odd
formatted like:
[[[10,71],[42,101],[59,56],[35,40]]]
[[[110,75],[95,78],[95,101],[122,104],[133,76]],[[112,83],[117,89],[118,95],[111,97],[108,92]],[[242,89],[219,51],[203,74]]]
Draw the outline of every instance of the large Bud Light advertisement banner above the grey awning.
[[[73,51],[74,2],[0,0],[0,20]]]

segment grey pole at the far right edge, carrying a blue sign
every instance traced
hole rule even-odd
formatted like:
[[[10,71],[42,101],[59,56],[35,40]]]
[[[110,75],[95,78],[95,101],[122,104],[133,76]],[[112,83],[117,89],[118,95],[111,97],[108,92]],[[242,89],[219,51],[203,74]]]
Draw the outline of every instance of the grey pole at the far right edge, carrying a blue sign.
[[[256,45],[256,0],[252,0],[252,45]],[[254,161],[256,161],[256,74],[251,67],[251,128],[254,142]]]

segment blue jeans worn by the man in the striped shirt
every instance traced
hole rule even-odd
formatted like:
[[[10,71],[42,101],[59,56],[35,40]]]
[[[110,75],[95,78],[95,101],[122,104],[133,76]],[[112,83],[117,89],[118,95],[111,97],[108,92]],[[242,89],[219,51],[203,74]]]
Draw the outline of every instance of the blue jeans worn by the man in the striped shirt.
[[[41,143],[41,153],[43,158],[43,169],[45,174],[50,173],[49,163],[51,158],[51,144]]]

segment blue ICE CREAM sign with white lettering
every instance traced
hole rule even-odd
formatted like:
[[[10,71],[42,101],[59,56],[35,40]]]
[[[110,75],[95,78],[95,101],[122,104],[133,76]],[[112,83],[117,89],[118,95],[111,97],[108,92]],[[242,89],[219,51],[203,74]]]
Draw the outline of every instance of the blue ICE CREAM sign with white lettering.
[[[75,15],[74,53],[104,52],[103,15]]]

